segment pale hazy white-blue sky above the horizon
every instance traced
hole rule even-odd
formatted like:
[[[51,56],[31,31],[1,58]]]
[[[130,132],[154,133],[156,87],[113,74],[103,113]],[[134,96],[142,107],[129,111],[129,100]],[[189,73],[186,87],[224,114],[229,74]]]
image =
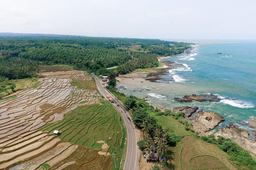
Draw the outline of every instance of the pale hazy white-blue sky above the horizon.
[[[0,32],[256,39],[255,0],[2,0]]]

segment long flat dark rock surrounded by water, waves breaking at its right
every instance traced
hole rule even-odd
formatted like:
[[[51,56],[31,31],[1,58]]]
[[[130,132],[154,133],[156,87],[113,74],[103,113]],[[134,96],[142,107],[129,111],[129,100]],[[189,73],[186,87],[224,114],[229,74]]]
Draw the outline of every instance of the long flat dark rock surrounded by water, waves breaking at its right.
[[[213,95],[213,94],[201,94],[201,95],[192,94],[191,96],[185,95],[183,97],[183,99],[195,100],[197,102],[218,102],[218,101],[220,101],[218,96]]]

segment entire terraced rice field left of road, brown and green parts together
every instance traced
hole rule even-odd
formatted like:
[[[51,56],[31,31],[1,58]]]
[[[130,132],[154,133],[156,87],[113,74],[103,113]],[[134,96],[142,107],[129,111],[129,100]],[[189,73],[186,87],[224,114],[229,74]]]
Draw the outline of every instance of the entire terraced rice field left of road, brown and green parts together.
[[[111,169],[113,157],[101,151],[112,152],[118,147],[119,134],[114,131],[120,128],[120,123],[117,117],[113,118],[113,108],[105,106],[104,110],[92,78],[71,67],[40,68],[38,86],[0,102],[0,169]],[[86,85],[73,86],[73,80]],[[52,130],[40,130],[55,128],[60,122],[64,123],[58,124],[64,130],[59,136],[53,135]],[[109,147],[101,150],[103,145]]]

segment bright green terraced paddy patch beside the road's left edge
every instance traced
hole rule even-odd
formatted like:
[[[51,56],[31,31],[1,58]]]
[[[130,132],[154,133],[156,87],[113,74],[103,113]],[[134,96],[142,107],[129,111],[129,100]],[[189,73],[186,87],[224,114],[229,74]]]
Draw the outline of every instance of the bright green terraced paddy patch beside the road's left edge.
[[[109,147],[104,148],[103,151],[116,154],[118,159],[116,164],[120,165],[126,138],[124,127],[123,125],[121,127],[120,122],[120,114],[113,106],[108,102],[105,104],[102,102],[102,105],[79,106],[65,114],[63,120],[46,124],[39,130],[52,134],[58,129],[60,130],[58,137],[62,141],[97,150],[101,150],[103,144],[97,141],[105,141]]]

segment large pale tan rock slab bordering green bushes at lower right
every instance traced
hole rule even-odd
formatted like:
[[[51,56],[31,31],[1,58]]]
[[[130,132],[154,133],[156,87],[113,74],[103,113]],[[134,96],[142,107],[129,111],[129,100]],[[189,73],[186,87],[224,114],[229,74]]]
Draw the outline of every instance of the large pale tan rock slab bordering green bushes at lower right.
[[[239,128],[239,126],[230,123],[225,129],[220,129],[214,133],[215,136],[222,136],[235,141],[244,149],[250,150],[256,154],[256,139],[251,138],[247,130]]]

